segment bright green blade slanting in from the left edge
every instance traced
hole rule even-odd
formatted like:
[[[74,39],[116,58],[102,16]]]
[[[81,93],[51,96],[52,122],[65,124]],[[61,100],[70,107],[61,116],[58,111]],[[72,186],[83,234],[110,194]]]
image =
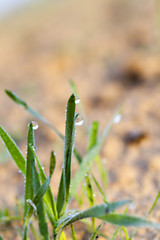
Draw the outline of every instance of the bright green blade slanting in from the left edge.
[[[8,149],[12,159],[18,166],[19,170],[25,175],[25,158],[21,151],[17,147],[13,139],[7,134],[7,132],[0,126],[0,137]]]

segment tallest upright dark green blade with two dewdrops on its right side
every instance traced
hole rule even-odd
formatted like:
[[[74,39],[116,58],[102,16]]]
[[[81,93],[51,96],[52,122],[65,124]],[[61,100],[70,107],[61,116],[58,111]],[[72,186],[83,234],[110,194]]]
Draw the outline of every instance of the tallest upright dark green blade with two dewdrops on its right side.
[[[69,199],[70,181],[71,181],[71,158],[74,147],[75,137],[75,96],[74,94],[68,100],[65,121],[65,140],[64,140],[64,159],[61,180],[57,197],[57,211],[59,216],[65,209]]]

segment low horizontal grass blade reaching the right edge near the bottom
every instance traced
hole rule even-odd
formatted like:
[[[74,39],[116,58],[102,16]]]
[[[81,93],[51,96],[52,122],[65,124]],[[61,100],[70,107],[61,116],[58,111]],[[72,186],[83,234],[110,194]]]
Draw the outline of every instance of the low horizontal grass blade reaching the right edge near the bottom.
[[[125,214],[106,214],[104,216],[98,217],[99,219],[109,222],[115,225],[121,225],[125,227],[134,226],[134,227],[153,227],[160,230],[160,224],[147,221],[146,219],[125,215]]]

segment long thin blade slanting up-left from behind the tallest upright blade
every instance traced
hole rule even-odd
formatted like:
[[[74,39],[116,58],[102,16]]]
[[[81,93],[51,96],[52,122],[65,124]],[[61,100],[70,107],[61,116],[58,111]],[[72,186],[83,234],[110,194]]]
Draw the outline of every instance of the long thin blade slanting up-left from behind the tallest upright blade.
[[[19,96],[17,96],[14,92],[10,90],[5,90],[6,94],[18,105],[25,108],[32,116],[43,122],[49,128],[51,128],[62,140],[64,140],[63,134],[51,123],[49,123],[44,117],[42,117],[38,112],[32,109],[24,100],[22,100]],[[82,157],[77,149],[74,149],[74,155],[78,161],[78,163],[82,162]]]

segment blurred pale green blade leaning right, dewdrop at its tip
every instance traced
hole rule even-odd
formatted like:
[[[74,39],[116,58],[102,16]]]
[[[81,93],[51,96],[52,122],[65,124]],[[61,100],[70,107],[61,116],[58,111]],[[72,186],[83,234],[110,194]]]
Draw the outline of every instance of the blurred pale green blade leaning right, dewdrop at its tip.
[[[96,155],[99,154],[99,151],[102,147],[102,144],[114,122],[115,117],[117,116],[117,113],[120,111],[120,109],[118,109],[116,111],[116,113],[114,114],[113,118],[110,120],[110,122],[107,124],[106,128],[104,129],[101,137],[99,138],[99,140],[97,141],[97,143],[95,144],[95,146],[93,146],[91,148],[91,150],[89,150],[86,155],[84,156],[83,162],[81,163],[76,175],[74,176],[73,180],[72,180],[72,185],[71,185],[71,197],[73,197],[76,193],[76,191],[78,190],[78,186],[80,185],[80,183],[83,181],[85,174],[87,173],[87,167],[91,166]]]

